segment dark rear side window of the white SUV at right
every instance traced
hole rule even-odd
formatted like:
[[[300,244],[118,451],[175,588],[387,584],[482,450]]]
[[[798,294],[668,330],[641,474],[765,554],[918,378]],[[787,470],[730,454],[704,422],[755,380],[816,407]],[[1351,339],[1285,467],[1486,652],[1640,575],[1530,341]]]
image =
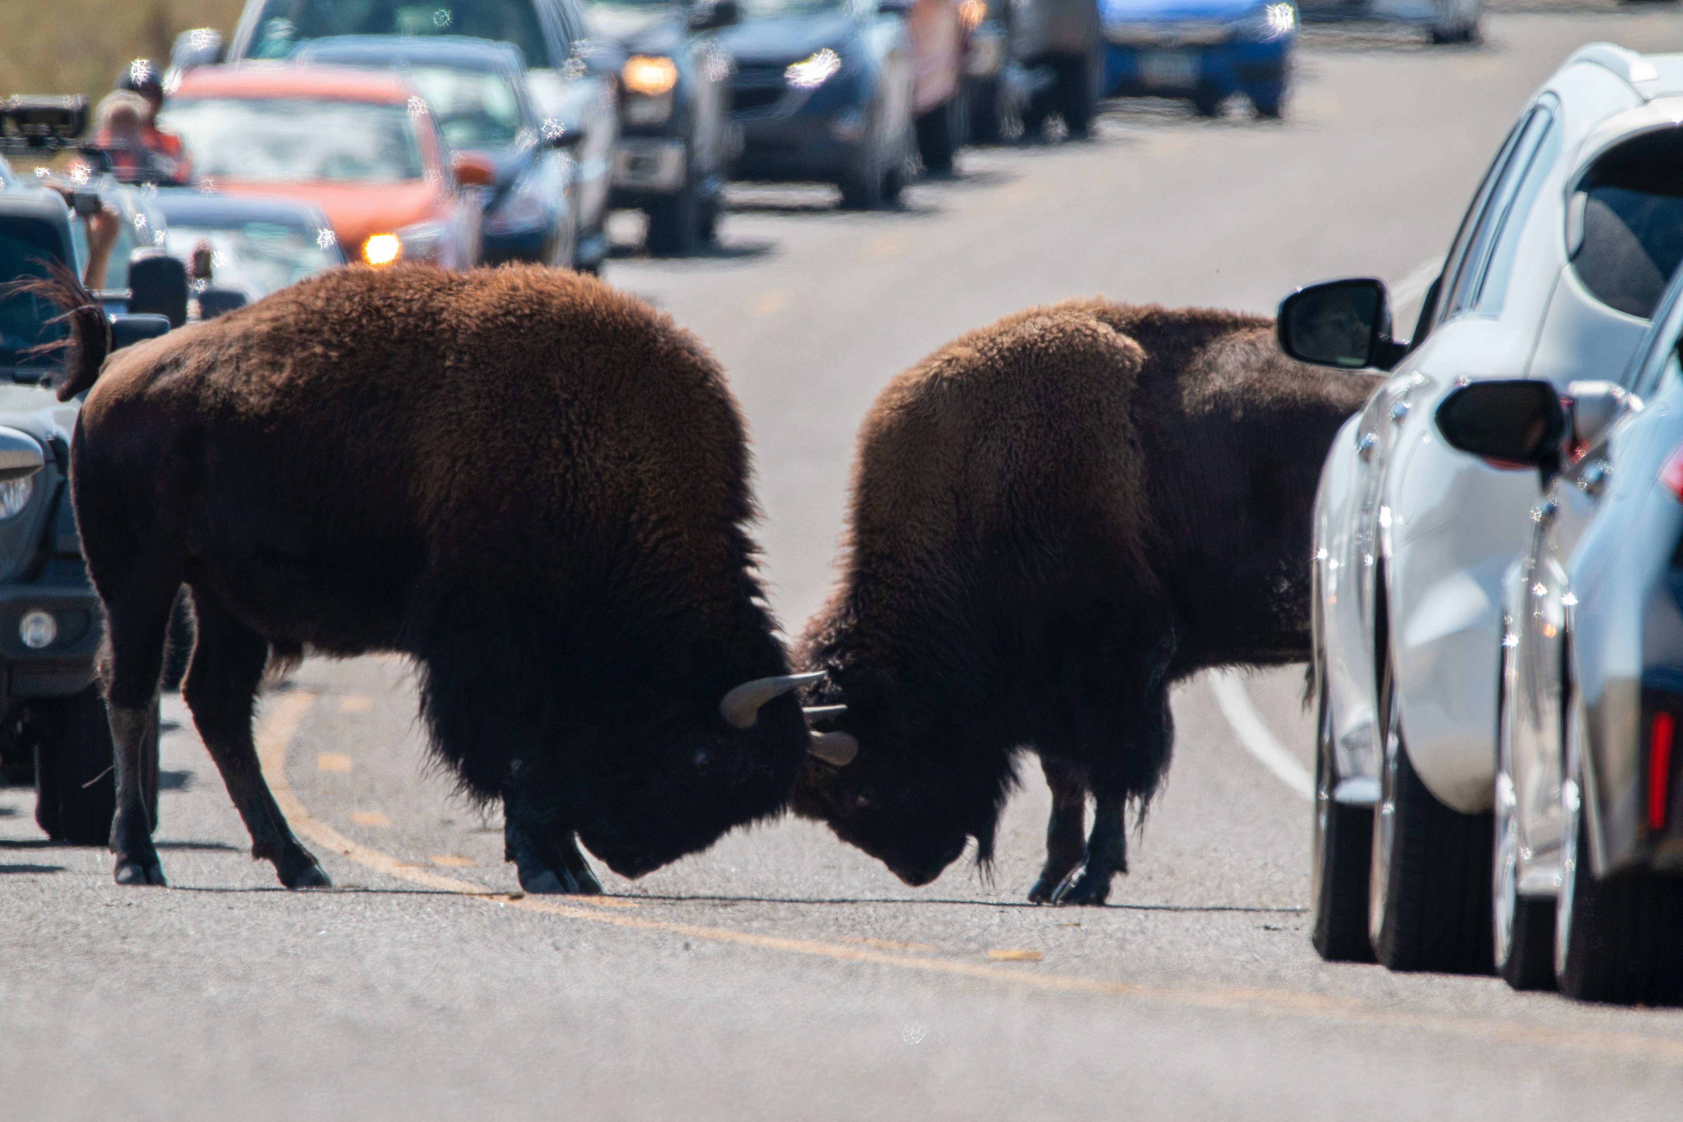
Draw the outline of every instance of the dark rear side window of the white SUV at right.
[[[1572,197],[1572,269],[1601,303],[1646,320],[1683,261],[1683,128],[1601,156]]]

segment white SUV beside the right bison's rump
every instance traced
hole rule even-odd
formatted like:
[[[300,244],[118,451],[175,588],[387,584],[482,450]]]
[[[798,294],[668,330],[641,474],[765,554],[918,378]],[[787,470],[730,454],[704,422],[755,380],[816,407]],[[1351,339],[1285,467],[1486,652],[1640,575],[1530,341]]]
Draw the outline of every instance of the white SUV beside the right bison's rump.
[[[1520,114],[1473,198],[1414,340],[1385,288],[1289,296],[1281,345],[1390,368],[1340,431],[1314,511],[1319,703],[1314,945],[1392,969],[1489,971],[1501,582],[1537,479],[1451,449],[1439,402],[1483,378],[1607,377],[1675,264],[1683,56],[1592,44]]]

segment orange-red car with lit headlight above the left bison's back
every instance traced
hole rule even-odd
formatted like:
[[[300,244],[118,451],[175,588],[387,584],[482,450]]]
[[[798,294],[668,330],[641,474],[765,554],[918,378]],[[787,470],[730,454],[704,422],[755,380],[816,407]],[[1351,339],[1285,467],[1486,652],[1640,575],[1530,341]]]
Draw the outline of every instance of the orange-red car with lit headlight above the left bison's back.
[[[200,187],[306,198],[345,256],[446,269],[480,262],[480,192],[495,168],[451,160],[426,103],[389,72],[343,67],[188,71],[158,118]]]

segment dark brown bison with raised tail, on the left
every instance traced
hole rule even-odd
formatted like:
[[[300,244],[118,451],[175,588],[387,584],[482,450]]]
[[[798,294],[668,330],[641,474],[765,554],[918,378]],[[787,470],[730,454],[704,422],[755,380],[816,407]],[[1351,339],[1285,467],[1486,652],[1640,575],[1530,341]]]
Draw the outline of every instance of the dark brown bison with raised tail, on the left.
[[[86,303],[61,283],[64,303]],[[343,269],[123,350],[72,320],[76,518],[108,616],[119,883],[170,606],[252,855],[325,885],[252,750],[274,656],[401,651],[433,747],[502,799],[528,892],[599,892],[781,811],[810,744],[761,599],[742,421],[707,350],[545,269]],[[94,380],[98,378],[98,382]],[[788,696],[783,696],[788,695]]]

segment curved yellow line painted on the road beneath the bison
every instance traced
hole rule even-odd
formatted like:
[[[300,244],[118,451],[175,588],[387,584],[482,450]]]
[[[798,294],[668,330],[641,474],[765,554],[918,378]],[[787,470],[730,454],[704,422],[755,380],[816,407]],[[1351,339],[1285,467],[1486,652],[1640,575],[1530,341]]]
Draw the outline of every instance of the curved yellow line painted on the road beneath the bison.
[[[1683,1065],[1683,1040],[1666,1040],[1659,1036],[1643,1036],[1639,1033],[1599,1033],[1542,1024],[1515,1024],[1510,1021],[1489,1021],[1478,1018],[1436,1016],[1427,1013],[1397,1013],[1378,1009],[1355,998],[1335,998],[1330,994],[1309,994],[1291,989],[1261,989],[1249,986],[1222,987],[1181,987],[1151,986],[1139,982],[1119,982],[1101,977],[1075,977],[1067,974],[1049,974],[1032,967],[985,966],[959,959],[937,959],[924,954],[890,954],[868,945],[843,945],[838,942],[821,942],[816,939],[791,939],[784,935],[757,935],[739,932],[729,927],[707,927],[700,924],[675,924],[670,920],[651,920],[638,915],[616,915],[592,908],[636,907],[631,900],[613,897],[565,897],[567,903],[552,898],[525,897],[520,893],[500,893],[483,885],[475,885],[454,876],[443,876],[421,865],[399,861],[397,858],[370,849],[352,841],[327,823],[315,818],[286,781],[286,749],[298,733],[305,715],[315,705],[316,695],[308,690],[293,690],[278,695],[266,707],[257,725],[257,759],[263,762],[263,774],[269,781],[274,801],[286,814],[291,828],[310,841],[350,858],[364,868],[377,873],[407,880],[416,885],[436,888],[439,892],[475,897],[510,908],[559,915],[571,920],[591,924],[611,924],[633,930],[660,932],[665,935],[682,935],[685,939],[707,939],[710,942],[735,944],[739,947],[756,947],[761,950],[781,950],[786,954],[803,954],[838,962],[865,962],[902,971],[924,974],[946,974],[953,977],[971,977],[988,982],[1005,982],[1030,989],[1101,994],[1111,998],[1133,998],[1198,1009],[1229,1009],[1240,1013],[1271,1013],[1281,1016],[1299,1016],[1338,1024],[1355,1024],[1387,1029],[1419,1029],[1446,1036],[1459,1036],[1488,1043],[1532,1045],[1540,1048],[1558,1048],[1574,1053],[1599,1053],[1611,1056],[1649,1060],[1654,1063]],[[589,907],[579,907],[589,905]]]

